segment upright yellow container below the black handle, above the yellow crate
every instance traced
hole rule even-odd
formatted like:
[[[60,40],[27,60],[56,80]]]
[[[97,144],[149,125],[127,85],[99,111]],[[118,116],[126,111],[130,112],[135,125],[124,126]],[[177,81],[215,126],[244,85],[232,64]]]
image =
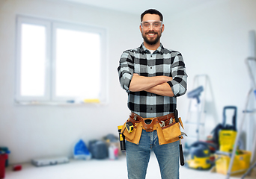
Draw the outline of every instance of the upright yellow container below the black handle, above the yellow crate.
[[[236,141],[237,131],[222,130],[219,132],[219,151],[233,151],[234,142]]]

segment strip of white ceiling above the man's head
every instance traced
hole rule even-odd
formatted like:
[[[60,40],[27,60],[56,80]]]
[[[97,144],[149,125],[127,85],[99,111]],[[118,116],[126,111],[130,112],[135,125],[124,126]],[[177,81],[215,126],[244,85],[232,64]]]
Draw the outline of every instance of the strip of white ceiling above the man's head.
[[[94,7],[106,8],[109,10],[118,10],[124,13],[140,15],[149,8],[159,10],[165,14],[174,14],[189,10],[204,4],[213,2],[213,0],[52,0],[68,1],[79,4],[87,4]],[[216,2],[216,0],[214,0]]]

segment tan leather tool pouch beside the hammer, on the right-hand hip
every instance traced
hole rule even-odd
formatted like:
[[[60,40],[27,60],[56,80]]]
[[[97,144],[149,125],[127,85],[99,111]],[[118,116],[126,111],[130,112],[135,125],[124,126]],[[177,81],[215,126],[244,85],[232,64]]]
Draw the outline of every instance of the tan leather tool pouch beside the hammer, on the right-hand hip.
[[[180,118],[179,122],[173,122],[170,125],[166,125],[162,128],[159,124],[156,125],[158,125],[156,127],[156,131],[159,139],[159,145],[175,142],[180,139],[180,126],[183,128],[183,123]],[[183,139],[183,136],[181,136],[181,139]]]

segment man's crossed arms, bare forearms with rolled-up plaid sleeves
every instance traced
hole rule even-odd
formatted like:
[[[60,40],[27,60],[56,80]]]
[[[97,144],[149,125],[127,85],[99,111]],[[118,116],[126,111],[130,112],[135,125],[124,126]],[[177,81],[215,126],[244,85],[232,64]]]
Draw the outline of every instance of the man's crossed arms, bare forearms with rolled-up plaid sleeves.
[[[169,97],[177,97],[185,94],[187,75],[183,57],[177,51],[171,53],[170,74],[172,77],[163,75],[147,77],[145,75],[138,75],[135,72],[135,68],[138,69],[140,68],[139,66],[143,67],[144,64],[139,64],[139,59],[137,59],[136,62],[133,60],[135,58],[134,51],[124,51],[121,56],[120,65],[118,66],[121,87],[127,92],[146,91]],[[136,54],[136,56],[138,56],[138,54]],[[169,64],[163,63],[163,65],[168,66]]]

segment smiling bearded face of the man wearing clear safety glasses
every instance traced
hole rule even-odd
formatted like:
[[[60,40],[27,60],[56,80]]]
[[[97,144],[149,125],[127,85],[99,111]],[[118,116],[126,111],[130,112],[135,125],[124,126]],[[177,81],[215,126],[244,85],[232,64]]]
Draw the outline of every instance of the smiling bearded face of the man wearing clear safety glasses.
[[[159,22],[160,17],[157,14],[147,13],[144,15],[142,22],[151,22],[149,28],[142,28],[140,26],[141,34],[144,39],[144,42],[149,45],[155,45],[159,42],[164,31],[164,25],[161,28],[154,28],[152,22]]]

